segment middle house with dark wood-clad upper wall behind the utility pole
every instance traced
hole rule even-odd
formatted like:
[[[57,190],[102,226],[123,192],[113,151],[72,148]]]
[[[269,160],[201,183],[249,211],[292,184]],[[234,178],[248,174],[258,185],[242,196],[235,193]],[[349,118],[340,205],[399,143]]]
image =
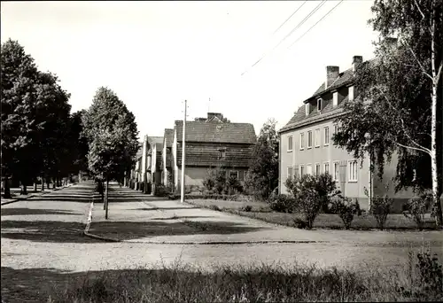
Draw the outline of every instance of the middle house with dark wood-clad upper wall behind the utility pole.
[[[186,121],[185,186],[203,186],[208,169],[224,167],[227,176],[245,180],[257,141],[253,124],[231,123],[221,113]],[[175,190],[182,177],[183,120],[175,120],[171,146],[171,173]]]

